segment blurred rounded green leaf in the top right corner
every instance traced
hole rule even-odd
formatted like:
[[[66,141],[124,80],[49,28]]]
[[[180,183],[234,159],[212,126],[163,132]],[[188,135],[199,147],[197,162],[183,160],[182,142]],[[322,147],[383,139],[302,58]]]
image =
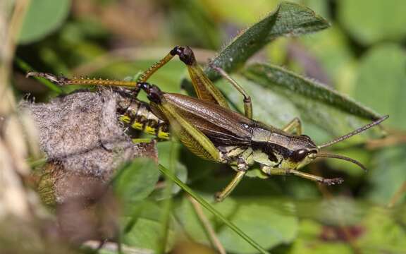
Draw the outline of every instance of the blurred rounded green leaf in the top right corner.
[[[362,44],[406,37],[403,0],[340,0],[337,5],[340,22]]]

